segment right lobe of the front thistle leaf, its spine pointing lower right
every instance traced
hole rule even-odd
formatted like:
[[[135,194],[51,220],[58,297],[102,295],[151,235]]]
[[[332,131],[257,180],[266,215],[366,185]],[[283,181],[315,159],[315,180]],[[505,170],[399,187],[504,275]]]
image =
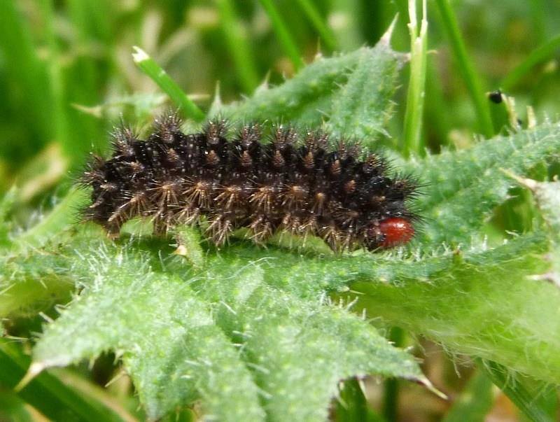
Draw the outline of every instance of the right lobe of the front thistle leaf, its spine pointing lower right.
[[[201,292],[218,304],[223,329],[244,343],[272,419],[325,420],[325,404],[337,393],[337,382],[356,375],[427,381],[411,356],[390,346],[356,315],[325,306],[324,296],[302,300],[289,288],[271,288],[262,275],[251,275],[262,273],[260,267],[238,265],[216,260],[213,273],[222,267],[221,274],[203,281]],[[235,276],[228,279],[227,271]],[[239,297],[246,300],[236,307]]]

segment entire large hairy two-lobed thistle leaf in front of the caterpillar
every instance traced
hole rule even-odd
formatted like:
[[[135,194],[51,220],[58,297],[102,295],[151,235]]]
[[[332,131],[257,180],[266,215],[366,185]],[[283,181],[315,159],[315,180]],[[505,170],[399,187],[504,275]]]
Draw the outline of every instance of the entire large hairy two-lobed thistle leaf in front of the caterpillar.
[[[322,421],[341,379],[377,373],[429,386],[412,356],[319,290],[268,283],[267,265],[235,252],[197,271],[158,249],[153,258],[80,251],[90,274],[45,329],[36,365],[116,351],[153,418],[201,400],[219,420]]]

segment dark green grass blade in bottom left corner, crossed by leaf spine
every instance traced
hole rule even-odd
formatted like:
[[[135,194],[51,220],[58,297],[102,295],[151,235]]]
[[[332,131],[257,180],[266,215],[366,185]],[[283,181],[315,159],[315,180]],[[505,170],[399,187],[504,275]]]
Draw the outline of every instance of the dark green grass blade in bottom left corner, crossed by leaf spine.
[[[7,339],[0,339],[0,386],[14,388],[25,375],[29,357]],[[116,412],[92,397],[84,397],[57,377],[42,372],[18,391],[18,396],[53,421],[123,421]],[[124,411],[123,411],[124,412]],[[134,420],[132,416],[126,420]]]

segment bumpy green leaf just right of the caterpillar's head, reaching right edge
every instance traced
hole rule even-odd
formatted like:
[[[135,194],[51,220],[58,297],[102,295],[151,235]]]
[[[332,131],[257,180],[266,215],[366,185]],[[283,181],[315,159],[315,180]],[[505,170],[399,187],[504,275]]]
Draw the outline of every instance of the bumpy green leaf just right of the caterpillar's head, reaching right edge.
[[[560,125],[547,124],[404,164],[426,184],[416,202],[425,219],[419,240],[431,246],[470,244],[514,186],[503,169],[526,174],[559,151]]]

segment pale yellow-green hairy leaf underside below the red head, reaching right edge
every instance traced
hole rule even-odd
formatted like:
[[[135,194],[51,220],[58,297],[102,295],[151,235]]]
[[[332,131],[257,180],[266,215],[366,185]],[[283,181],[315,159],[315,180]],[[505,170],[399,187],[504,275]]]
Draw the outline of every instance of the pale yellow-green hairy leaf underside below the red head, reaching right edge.
[[[362,293],[357,309],[452,351],[558,383],[560,290],[532,277],[549,267],[548,246],[545,236],[528,234],[489,251],[401,262],[401,269],[395,262],[385,269],[360,262],[356,270],[370,281],[351,289]]]

